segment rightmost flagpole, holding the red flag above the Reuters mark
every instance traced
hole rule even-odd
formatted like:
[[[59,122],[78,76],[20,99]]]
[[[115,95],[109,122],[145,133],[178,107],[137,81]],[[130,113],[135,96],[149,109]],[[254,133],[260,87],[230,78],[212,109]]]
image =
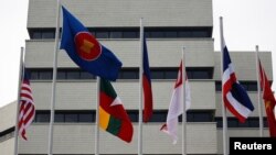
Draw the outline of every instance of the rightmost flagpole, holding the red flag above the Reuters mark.
[[[263,107],[261,101],[261,82],[259,82],[259,58],[258,58],[258,45],[256,45],[256,75],[257,75],[257,101],[258,101],[258,124],[259,136],[264,136],[264,123],[263,123]],[[262,75],[263,76],[263,75]]]

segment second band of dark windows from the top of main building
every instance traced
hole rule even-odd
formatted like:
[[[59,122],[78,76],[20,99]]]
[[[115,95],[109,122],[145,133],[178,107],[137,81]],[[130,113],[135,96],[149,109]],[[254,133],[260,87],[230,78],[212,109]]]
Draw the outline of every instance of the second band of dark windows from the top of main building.
[[[151,68],[152,79],[177,79],[178,68]],[[51,80],[52,69],[30,69],[31,79],[34,80]],[[189,79],[212,79],[212,68],[187,68]],[[57,70],[57,79],[96,79],[96,77],[85,70],[78,68]],[[118,79],[139,79],[138,68],[123,68],[119,71]]]

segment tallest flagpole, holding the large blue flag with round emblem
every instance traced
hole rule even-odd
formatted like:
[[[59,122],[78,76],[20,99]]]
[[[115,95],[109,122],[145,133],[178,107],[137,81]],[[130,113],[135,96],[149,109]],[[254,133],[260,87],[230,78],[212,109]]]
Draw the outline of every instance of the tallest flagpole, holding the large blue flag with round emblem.
[[[61,3],[60,0],[56,0],[55,47],[54,47],[54,60],[53,60],[51,118],[49,126],[49,155],[53,154],[53,123],[54,123],[55,90],[56,90],[57,51],[59,51],[59,38],[60,38],[60,12],[61,12]]]

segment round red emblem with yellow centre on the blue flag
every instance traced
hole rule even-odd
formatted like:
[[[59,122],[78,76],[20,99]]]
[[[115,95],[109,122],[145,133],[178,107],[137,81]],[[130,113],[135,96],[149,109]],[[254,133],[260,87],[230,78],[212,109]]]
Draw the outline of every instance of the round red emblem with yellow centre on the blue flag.
[[[84,60],[95,60],[102,54],[98,41],[88,32],[79,32],[75,36],[77,55]]]

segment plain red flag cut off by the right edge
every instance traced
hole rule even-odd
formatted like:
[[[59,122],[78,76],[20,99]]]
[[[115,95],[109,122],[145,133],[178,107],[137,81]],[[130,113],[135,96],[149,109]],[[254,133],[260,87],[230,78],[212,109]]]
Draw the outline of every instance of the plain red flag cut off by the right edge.
[[[262,67],[261,60],[258,59],[261,86],[263,88],[263,99],[265,102],[265,111],[267,115],[267,122],[269,128],[269,134],[272,137],[276,137],[276,119],[274,115],[274,108],[276,104],[270,84],[267,80],[264,68]]]

